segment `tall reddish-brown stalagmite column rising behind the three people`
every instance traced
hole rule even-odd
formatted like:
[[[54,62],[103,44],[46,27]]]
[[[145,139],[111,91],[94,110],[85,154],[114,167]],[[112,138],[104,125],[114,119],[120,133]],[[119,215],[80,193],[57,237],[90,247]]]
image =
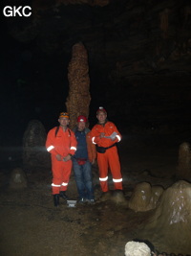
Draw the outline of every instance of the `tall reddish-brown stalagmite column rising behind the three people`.
[[[91,101],[88,54],[81,42],[73,46],[68,71],[69,95],[66,107],[71,118],[70,128],[74,128],[78,115],[89,116]]]

